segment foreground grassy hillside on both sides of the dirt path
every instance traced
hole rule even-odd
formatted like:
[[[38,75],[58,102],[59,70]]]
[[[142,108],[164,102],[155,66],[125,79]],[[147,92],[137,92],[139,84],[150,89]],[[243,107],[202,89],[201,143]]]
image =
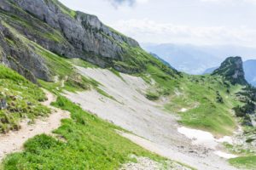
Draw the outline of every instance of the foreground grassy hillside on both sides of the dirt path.
[[[26,133],[24,133],[26,131],[24,131],[24,127],[20,127],[19,122],[27,120],[28,132],[32,132],[36,127],[33,126],[33,123],[38,122],[33,121],[48,116],[49,109],[38,102],[38,100],[44,100],[44,92],[15,71],[2,65],[0,65],[0,73],[1,133],[8,133],[9,130],[13,130],[15,133],[21,128],[23,134],[19,133],[16,137],[21,135],[22,139],[26,139]],[[45,88],[52,89],[50,86]],[[60,94],[58,96],[57,101],[52,104],[52,108],[55,106],[60,108],[58,111],[61,109],[69,111],[71,118],[62,120],[61,127],[56,129],[52,135],[40,134],[27,140],[23,152],[9,155],[1,160],[3,161],[1,169],[61,170],[63,167],[67,169],[117,169],[125,166],[125,163],[137,161],[137,159],[148,160],[159,169],[165,167],[190,169],[175,161],[167,161],[165,158],[156,156],[137,144],[131,143],[130,140],[117,133],[117,130],[122,132],[122,128],[103,121],[88,111],[83,111],[78,105],[73,104]],[[6,105],[3,105],[3,99],[6,99]],[[58,111],[55,114],[58,114]],[[43,121],[42,127],[45,123]],[[4,139],[9,136],[12,135],[0,134],[0,140],[5,144]],[[2,146],[1,143],[0,148]],[[15,150],[20,150],[20,148]],[[3,150],[0,151],[2,159],[6,153],[2,153]],[[142,166],[140,163],[142,162],[137,161],[138,166]],[[147,165],[146,168],[148,168]]]

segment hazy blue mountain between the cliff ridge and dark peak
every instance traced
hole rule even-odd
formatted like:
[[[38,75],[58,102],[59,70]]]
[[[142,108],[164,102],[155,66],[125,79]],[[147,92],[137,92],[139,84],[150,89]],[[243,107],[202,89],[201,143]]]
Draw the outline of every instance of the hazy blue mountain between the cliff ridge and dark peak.
[[[173,65],[178,71],[184,71],[190,74],[200,74],[214,64],[218,64],[219,59],[212,54],[195,48],[191,45],[160,44],[147,45],[142,44],[148,52],[157,54]]]

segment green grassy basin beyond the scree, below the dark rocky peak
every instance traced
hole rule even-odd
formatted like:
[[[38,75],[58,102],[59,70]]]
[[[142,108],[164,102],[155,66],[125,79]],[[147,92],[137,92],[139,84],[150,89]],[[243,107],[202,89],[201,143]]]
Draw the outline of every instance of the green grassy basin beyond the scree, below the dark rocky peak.
[[[156,84],[147,97],[149,95],[158,99],[161,95],[166,95],[170,99],[165,105],[166,111],[178,113],[181,123],[210,131],[218,136],[234,132],[236,121],[231,109],[235,105],[241,105],[235,99],[235,94],[241,86],[232,86],[221,77],[183,74],[183,77],[174,79],[152,65],[148,65],[148,73]],[[150,82],[148,77],[143,77]],[[218,102],[218,96],[223,99],[223,103]],[[182,112],[183,108],[188,111]]]

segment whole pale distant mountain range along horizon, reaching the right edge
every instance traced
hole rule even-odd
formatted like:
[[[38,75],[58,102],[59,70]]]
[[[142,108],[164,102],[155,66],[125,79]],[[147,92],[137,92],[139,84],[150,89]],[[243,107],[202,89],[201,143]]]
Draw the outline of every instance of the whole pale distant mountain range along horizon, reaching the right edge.
[[[189,74],[202,74],[208,68],[219,65],[226,57],[242,56],[249,59],[256,56],[256,48],[232,45],[195,46],[190,44],[154,44],[143,43],[141,46],[150,53],[157,54],[178,71]]]

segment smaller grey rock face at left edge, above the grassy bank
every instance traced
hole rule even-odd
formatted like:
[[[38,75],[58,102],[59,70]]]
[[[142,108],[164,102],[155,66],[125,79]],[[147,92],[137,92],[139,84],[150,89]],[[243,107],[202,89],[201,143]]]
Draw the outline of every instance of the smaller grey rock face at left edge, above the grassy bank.
[[[36,77],[49,81],[44,59],[0,23],[0,62],[36,82]]]

